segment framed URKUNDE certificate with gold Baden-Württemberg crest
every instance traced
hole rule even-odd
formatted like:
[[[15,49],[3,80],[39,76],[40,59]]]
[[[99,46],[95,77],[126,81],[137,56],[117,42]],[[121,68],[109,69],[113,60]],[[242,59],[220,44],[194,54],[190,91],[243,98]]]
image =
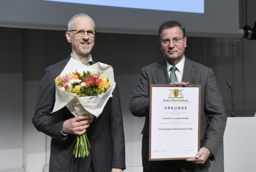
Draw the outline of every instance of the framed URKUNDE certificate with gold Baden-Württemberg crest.
[[[149,161],[195,157],[201,85],[150,85]]]

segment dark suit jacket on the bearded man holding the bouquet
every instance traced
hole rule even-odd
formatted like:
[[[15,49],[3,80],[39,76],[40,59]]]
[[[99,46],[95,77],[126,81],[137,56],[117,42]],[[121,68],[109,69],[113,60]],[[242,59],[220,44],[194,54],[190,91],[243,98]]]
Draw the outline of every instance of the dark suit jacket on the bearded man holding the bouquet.
[[[116,85],[103,112],[93,119],[87,128],[87,136],[91,144],[90,155],[85,158],[74,158],[73,149],[69,150],[75,136],[62,136],[61,130],[65,120],[73,118],[70,111],[64,107],[50,114],[55,104],[55,81],[70,60],[56,63],[45,69],[39,86],[37,106],[33,124],[38,131],[52,137],[49,172],[87,172],[91,163],[95,172],[111,172],[112,168],[125,169],[125,142],[123,119]],[[95,63],[95,62],[94,62]]]

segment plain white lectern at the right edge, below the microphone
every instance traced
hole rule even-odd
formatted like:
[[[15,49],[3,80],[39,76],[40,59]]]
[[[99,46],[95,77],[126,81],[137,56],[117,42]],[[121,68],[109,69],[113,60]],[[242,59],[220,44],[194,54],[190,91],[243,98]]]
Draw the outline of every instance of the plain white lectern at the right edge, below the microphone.
[[[228,118],[224,172],[256,172],[256,117]]]

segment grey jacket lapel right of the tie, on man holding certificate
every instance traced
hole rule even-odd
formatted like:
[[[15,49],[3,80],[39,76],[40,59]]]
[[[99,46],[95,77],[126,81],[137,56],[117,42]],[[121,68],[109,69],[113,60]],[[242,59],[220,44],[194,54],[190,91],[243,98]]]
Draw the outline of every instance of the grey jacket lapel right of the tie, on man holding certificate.
[[[190,84],[191,84],[192,77],[194,74],[193,66],[194,66],[194,64],[192,63],[192,61],[190,61],[185,56],[184,70],[183,70],[183,76],[182,76],[183,82],[190,82]]]

